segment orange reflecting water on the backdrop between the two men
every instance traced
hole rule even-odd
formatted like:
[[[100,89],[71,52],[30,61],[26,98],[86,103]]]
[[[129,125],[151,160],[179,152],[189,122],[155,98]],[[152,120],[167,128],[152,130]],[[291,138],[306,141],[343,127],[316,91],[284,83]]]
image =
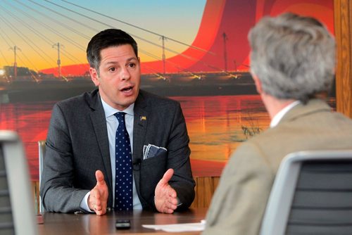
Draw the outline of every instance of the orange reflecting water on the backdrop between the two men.
[[[182,104],[191,141],[191,159],[225,163],[251,132],[266,129],[270,122],[258,95],[173,99]]]

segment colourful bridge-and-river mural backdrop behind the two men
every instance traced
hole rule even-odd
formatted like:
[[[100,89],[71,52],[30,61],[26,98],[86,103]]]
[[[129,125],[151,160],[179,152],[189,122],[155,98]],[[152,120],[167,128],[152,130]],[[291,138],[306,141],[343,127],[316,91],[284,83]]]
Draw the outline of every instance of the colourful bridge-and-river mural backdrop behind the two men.
[[[194,176],[218,176],[270,123],[249,74],[249,29],[287,11],[334,33],[333,0],[1,1],[0,129],[20,134],[37,181],[37,141],[46,139],[52,106],[94,89],[87,43],[115,27],[139,45],[141,88],[180,101]]]

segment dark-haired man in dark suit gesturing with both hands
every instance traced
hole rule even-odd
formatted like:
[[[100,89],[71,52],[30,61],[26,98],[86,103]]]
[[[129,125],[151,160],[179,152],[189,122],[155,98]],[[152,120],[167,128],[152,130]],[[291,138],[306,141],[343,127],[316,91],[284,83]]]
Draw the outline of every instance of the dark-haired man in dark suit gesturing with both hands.
[[[172,213],[189,208],[195,182],[180,103],[139,90],[137,43],[122,30],[92,37],[87,59],[99,89],[53,108],[40,188],[44,208],[104,215],[125,200],[130,200],[130,208],[123,210]],[[122,111],[125,118],[115,118]],[[120,127],[127,135],[122,176],[117,157],[122,145],[115,142]],[[128,182],[128,177],[130,194],[125,199],[118,182]]]

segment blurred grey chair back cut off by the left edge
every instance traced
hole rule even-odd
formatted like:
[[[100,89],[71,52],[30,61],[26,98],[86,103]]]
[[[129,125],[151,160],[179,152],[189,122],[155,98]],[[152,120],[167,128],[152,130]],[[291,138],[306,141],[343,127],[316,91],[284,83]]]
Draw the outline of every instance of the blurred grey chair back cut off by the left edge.
[[[18,135],[0,131],[0,234],[37,234],[29,178]]]

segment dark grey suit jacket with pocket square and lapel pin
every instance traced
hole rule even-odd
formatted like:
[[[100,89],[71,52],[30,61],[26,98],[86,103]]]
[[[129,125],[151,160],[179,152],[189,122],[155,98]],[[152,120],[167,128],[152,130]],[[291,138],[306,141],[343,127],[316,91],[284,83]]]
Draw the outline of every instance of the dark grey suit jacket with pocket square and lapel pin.
[[[168,151],[143,160],[143,146],[148,144]],[[134,103],[132,161],[137,193],[144,209],[155,209],[156,184],[169,168],[175,170],[169,183],[182,202],[180,209],[191,205],[195,182],[188,144],[180,103],[139,91]],[[108,132],[98,90],[58,102],[53,108],[40,186],[44,208],[54,212],[82,210],[82,198],[96,184],[96,170],[104,174],[108,207],[112,207]]]

